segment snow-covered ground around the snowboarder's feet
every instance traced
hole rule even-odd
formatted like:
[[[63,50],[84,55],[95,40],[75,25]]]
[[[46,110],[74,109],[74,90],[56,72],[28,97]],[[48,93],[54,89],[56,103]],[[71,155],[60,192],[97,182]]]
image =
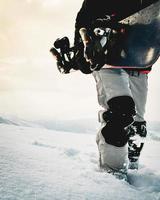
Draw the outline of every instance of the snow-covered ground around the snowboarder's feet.
[[[0,200],[160,200],[159,152],[149,137],[129,184],[99,170],[95,135],[1,123]]]

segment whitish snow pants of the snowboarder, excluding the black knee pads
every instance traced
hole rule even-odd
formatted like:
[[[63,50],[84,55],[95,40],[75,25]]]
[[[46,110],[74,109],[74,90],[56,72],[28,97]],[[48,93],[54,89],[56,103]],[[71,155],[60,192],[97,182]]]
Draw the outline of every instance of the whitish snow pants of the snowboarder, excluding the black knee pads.
[[[145,105],[148,91],[148,75],[142,73],[127,73],[124,69],[101,69],[94,71],[98,102],[108,109],[107,102],[113,97],[131,96],[136,106],[135,121],[144,121]],[[102,128],[105,122],[99,117]],[[102,129],[101,128],[101,129]],[[116,147],[107,144],[101,134],[97,134],[97,144],[100,154],[100,165],[108,170],[125,169],[128,165],[128,145]]]

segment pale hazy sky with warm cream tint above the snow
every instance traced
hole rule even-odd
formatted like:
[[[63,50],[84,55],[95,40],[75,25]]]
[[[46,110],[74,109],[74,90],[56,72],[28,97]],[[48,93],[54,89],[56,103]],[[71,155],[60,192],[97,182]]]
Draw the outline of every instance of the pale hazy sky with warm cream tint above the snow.
[[[0,1],[0,114],[21,118],[96,117],[92,75],[61,75],[49,52],[58,37],[73,43],[82,0]],[[160,70],[149,78],[146,118],[160,119]]]

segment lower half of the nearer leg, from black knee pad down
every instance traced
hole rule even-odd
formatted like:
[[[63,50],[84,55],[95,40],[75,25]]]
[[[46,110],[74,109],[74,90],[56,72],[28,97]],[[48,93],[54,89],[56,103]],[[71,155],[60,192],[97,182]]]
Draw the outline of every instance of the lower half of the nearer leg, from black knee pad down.
[[[97,135],[100,166],[114,171],[126,170],[128,165],[128,129],[135,114],[134,101],[129,96],[114,97],[109,108],[99,113],[103,124]]]

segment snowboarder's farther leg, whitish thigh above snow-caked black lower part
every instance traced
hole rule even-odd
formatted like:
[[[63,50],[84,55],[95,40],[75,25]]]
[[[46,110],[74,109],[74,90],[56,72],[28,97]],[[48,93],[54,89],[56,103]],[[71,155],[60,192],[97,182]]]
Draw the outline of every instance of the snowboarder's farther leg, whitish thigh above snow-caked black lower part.
[[[146,121],[144,119],[148,91],[148,75],[130,75],[130,88],[136,105],[135,122],[128,128],[130,139],[128,142],[129,168],[138,169],[140,153],[147,135]]]

